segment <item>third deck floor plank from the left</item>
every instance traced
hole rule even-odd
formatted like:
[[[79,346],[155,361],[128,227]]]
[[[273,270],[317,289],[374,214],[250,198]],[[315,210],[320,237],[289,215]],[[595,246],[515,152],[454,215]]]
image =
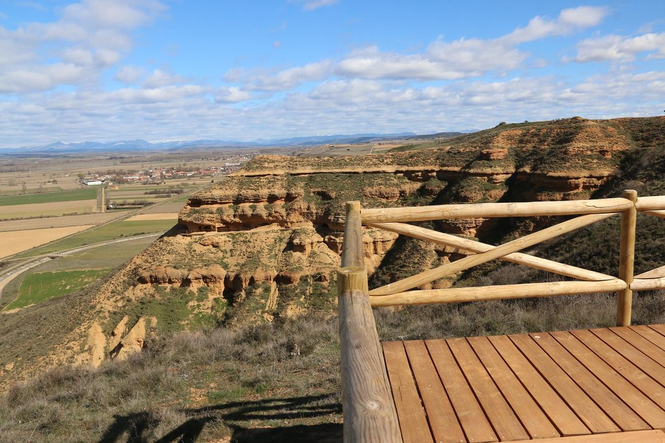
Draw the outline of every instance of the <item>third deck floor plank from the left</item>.
[[[496,442],[497,436],[466,382],[446,340],[425,340],[432,362],[446,388],[469,442]]]

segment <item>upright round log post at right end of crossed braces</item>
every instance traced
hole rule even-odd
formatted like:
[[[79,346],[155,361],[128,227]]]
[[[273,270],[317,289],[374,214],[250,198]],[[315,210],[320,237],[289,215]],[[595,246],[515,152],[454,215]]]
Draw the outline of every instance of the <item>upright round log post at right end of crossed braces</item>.
[[[633,280],[634,258],[635,258],[635,223],[637,218],[637,191],[626,189],[622,197],[632,201],[633,206],[621,213],[621,241],[619,252],[619,278],[628,284],[624,290],[617,292],[616,300],[616,325],[630,325],[630,313],[632,309],[632,290],[630,284]]]

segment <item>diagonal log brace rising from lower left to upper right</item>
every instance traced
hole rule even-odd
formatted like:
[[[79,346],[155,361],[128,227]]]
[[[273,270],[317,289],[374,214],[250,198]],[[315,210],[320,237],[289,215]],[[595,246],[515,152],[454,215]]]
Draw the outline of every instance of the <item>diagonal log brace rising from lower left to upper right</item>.
[[[548,226],[545,229],[541,229],[537,232],[533,232],[532,234],[525,235],[520,238],[515,238],[515,240],[503,243],[496,248],[481,252],[480,254],[466,256],[465,258],[456,260],[455,262],[444,264],[438,268],[426,270],[425,272],[404,278],[398,282],[390,283],[385,286],[381,286],[380,288],[373,289],[370,291],[370,295],[385,296],[388,294],[404,292],[406,290],[410,290],[411,288],[416,288],[416,286],[433,282],[438,278],[443,278],[450,274],[455,274],[456,272],[460,272],[468,268],[472,268],[473,266],[489,262],[490,260],[503,257],[507,254],[511,254],[512,252],[517,252],[521,249],[533,246],[534,244],[538,244],[540,242],[544,242],[545,240],[566,234],[567,232],[572,232],[573,230],[583,228],[584,226],[589,226],[589,224],[602,221],[608,217],[612,217],[613,215],[614,214],[583,215],[581,217],[576,217],[575,219],[570,219],[565,222],[555,224],[554,226]]]

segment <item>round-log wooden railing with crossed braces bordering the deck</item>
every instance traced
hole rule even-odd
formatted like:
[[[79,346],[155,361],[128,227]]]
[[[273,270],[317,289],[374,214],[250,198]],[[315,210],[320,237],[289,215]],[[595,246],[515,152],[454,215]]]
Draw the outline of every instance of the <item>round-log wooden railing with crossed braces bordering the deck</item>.
[[[458,303],[475,300],[549,297],[594,292],[616,292],[616,324],[630,325],[632,293],[665,288],[665,266],[633,276],[636,214],[665,218],[665,196],[637,197],[624,191],[613,199],[526,203],[478,203],[407,208],[361,209],[346,203],[342,268],[338,271],[340,347],[342,353],[342,408],[345,442],[401,442],[372,306]],[[562,264],[519,252],[525,248],[620,214],[618,277]],[[460,238],[407,224],[439,219],[579,215],[500,246]],[[362,248],[362,225],[467,250],[473,254],[368,290]],[[577,281],[508,284],[480,288],[414,290],[489,260],[501,259],[576,278]]]

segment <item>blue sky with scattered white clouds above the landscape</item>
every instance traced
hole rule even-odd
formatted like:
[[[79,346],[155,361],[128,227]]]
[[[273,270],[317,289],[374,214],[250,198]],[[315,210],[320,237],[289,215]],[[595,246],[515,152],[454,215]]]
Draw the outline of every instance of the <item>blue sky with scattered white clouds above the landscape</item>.
[[[665,1],[0,1],[0,147],[665,115]]]

